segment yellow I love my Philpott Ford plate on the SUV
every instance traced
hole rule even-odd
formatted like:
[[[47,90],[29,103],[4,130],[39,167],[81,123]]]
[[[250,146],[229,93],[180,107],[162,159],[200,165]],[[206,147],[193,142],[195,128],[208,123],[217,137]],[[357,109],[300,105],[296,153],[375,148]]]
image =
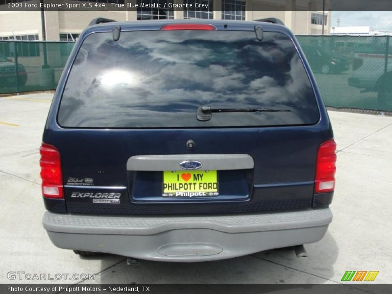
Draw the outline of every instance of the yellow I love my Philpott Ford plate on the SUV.
[[[218,196],[217,171],[165,171],[163,197]]]

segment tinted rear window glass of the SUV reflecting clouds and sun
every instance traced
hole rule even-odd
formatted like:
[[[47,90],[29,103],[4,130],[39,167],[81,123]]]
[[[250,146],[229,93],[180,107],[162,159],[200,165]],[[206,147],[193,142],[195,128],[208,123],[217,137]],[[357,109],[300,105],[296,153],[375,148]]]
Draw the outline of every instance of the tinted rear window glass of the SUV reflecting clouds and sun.
[[[199,106],[288,109],[212,113]],[[161,128],[313,124],[314,92],[291,39],[246,31],[94,33],[77,53],[61,99],[65,127]]]

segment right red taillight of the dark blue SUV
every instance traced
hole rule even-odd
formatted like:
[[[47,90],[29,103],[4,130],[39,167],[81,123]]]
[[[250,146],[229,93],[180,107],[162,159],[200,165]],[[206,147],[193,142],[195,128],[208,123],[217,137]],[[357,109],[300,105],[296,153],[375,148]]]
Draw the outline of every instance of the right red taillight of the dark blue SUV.
[[[325,141],[317,150],[315,193],[332,192],[335,189],[336,143]]]

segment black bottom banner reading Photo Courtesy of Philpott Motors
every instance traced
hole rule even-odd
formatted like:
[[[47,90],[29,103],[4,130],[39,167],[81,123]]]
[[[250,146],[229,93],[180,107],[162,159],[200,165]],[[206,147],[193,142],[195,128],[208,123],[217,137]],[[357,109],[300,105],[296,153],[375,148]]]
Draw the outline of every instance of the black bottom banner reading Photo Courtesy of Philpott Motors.
[[[392,284],[0,284],[1,294],[390,294]]]

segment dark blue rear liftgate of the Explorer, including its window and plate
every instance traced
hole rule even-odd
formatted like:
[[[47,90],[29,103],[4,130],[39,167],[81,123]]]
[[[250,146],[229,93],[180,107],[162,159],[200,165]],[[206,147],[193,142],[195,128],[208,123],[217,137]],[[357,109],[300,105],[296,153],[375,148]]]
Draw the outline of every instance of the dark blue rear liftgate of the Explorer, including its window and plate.
[[[61,154],[67,211],[312,207],[332,131],[293,36],[266,26],[262,41],[254,25],[84,33],[44,134]]]

